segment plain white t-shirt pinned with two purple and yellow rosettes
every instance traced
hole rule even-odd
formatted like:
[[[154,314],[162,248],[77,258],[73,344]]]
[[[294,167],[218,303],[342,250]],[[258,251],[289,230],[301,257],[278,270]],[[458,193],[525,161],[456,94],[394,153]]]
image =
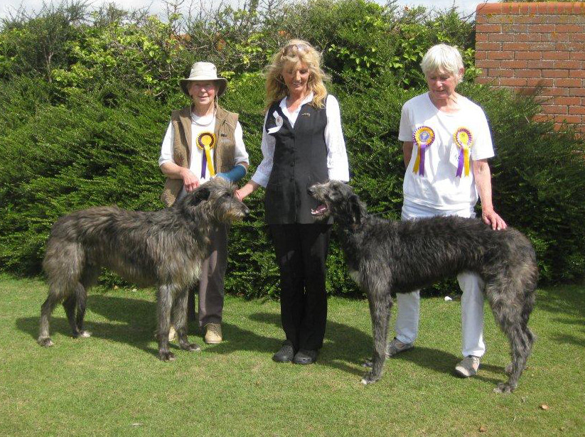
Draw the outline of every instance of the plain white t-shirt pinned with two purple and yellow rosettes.
[[[494,156],[488,120],[481,107],[459,96],[461,109],[452,114],[439,111],[428,93],[413,97],[402,107],[398,139],[413,141],[417,129],[432,130],[434,141],[424,152],[424,175],[413,171],[419,145],[414,141],[412,157],[404,175],[404,205],[421,205],[436,210],[466,210],[478,201],[472,161]],[[468,175],[457,176],[460,150],[453,139],[459,129],[471,133]],[[466,137],[463,136],[463,139]],[[420,158],[419,158],[420,161]]]

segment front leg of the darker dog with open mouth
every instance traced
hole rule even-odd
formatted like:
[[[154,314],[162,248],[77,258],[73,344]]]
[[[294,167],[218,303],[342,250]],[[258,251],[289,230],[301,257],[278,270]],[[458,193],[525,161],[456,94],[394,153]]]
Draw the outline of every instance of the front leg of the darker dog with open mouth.
[[[392,308],[390,291],[367,293],[367,301],[370,305],[370,316],[372,318],[374,352],[372,354],[372,370],[362,378],[363,384],[371,384],[382,377],[386,360],[390,309]]]

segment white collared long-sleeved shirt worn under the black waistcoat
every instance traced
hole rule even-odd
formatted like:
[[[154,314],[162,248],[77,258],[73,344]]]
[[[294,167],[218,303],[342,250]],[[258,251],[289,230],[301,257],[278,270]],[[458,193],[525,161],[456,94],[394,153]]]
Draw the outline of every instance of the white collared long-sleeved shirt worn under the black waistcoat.
[[[280,107],[284,117],[289,119],[291,126],[294,127],[297,117],[301,112],[301,107],[313,100],[313,92],[311,92],[299,107],[294,112],[289,112],[286,109],[286,97],[281,99]],[[345,151],[345,140],[343,139],[343,131],[341,131],[341,114],[339,110],[339,102],[332,95],[327,96],[325,102],[325,110],[327,116],[327,125],[325,126],[325,144],[327,146],[327,171],[330,180],[336,179],[347,182],[349,176],[348,153]],[[262,162],[257,167],[252,180],[262,187],[266,187],[272,173],[272,165],[274,159],[274,148],[277,140],[274,136],[267,134],[265,129],[266,120],[272,117],[272,114],[266,114],[264,117],[264,126],[262,128]]]

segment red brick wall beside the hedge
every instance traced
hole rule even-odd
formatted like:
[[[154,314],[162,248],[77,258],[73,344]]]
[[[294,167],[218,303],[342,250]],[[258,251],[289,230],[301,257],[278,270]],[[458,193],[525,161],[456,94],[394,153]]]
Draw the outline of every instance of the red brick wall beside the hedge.
[[[476,11],[480,83],[530,94],[541,119],[585,131],[585,3],[495,3]]]

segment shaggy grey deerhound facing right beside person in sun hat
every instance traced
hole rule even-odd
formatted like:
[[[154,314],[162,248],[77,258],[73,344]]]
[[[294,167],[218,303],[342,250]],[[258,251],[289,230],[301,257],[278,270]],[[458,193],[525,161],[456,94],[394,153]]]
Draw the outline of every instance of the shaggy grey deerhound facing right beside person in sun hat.
[[[161,360],[175,359],[168,350],[171,315],[181,349],[198,350],[187,339],[188,288],[199,279],[211,227],[248,213],[234,189],[232,183],[215,178],[164,210],[92,207],[61,217],[53,225],[43,260],[49,293],[41,307],[38,344],[53,345],[49,319],[60,302],[73,337],[90,336],[83,328],[87,289],[104,266],[140,286],[158,286],[156,332]]]

